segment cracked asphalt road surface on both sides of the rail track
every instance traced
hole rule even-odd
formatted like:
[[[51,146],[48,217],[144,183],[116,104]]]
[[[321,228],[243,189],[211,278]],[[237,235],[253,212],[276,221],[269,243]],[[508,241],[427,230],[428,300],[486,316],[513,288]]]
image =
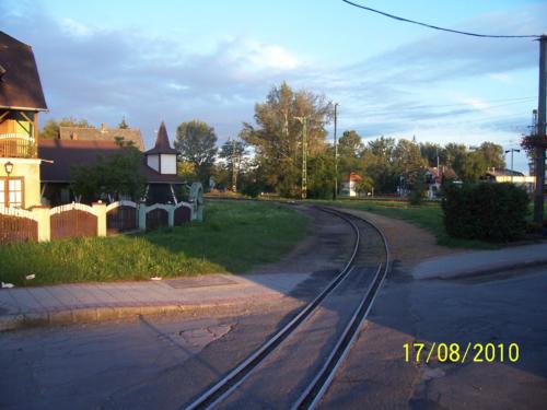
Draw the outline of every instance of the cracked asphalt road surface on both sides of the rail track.
[[[315,273],[279,304],[248,312],[0,333],[1,409],[177,409],[309,301],[344,257],[340,226],[292,257]],[[329,269],[317,262],[329,248]],[[283,261],[292,266],[291,259]],[[304,269],[306,263],[302,263]],[[323,409],[545,409],[547,268],[466,280],[412,280],[395,263]],[[517,362],[408,363],[405,343],[517,343]],[[270,407],[272,403],[268,403]]]

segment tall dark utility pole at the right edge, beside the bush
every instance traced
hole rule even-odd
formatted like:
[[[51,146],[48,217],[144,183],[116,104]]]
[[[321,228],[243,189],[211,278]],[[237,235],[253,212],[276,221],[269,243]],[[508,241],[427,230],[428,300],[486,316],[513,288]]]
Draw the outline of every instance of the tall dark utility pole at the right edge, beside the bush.
[[[544,222],[544,185],[545,185],[545,107],[546,107],[546,50],[547,35],[539,37],[539,101],[537,104],[537,129],[536,129],[536,190],[534,192],[534,221],[538,224]]]

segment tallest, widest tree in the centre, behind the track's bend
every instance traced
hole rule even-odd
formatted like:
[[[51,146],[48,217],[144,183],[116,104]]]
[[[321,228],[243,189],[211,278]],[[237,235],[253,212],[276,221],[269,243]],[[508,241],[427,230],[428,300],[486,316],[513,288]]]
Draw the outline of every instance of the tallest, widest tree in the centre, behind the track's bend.
[[[294,92],[286,82],[255,105],[256,127],[244,122],[241,138],[253,147],[265,186],[286,196],[300,192],[303,125],[307,120],[307,154],[312,159],[325,150],[333,106],[323,95]]]

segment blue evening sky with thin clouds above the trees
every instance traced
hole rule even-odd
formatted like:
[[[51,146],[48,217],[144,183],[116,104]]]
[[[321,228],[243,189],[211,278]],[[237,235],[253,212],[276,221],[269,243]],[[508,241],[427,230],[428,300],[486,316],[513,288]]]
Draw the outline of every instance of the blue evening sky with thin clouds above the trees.
[[[457,30],[547,32],[545,1],[358,2]],[[162,119],[172,138],[193,118],[234,137],[283,80],[338,102],[340,132],[365,138],[509,149],[537,105],[536,42],[430,31],[340,0],[2,0],[0,15],[0,30],[33,46],[45,119],[126,116],[147,147]],[[527,171],[525,155],[515,168]]]

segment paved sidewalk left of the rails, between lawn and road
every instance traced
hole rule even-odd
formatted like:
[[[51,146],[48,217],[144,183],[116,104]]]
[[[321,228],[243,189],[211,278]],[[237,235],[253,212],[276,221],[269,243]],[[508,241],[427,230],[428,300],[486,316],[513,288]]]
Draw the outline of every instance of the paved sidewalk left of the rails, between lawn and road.
[[[267,303],[280,300],[307,278],[310,273],[210,274],[162,281],[1,289],[0,331]]]

